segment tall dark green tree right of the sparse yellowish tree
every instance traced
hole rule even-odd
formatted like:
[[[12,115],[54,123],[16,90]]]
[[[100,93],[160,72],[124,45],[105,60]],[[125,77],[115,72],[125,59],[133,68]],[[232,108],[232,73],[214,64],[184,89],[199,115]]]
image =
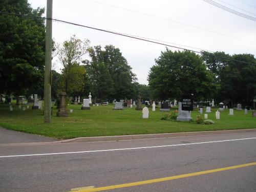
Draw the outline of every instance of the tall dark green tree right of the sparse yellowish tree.
[[[132,83],[136,80],[136,75],[118,48],[109,45],[104,49],[100,46],[89,49],[91,62],[87,62],[87,69],[90,81],[94,84],[92,89],[101,90],[94,94],[97,98],[110,100],[131,98]],[[101,82],[105,86],[93,82]]]

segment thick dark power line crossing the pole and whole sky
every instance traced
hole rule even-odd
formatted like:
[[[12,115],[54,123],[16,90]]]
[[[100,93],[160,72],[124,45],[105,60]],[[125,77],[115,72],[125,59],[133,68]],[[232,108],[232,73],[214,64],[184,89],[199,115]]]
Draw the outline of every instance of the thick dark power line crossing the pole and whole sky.
[[[105,30],[105,29],[99,29],[99,28],[95,28],[95,27],[90,27],[90,26],[85,26],[85,25],[76,24],[76,23],[72,23],[72,22],[67,22],[65,20],[60,20],[60,19],[47,18],[47,17],[39,17],[39,16],[30,16],[30,15],[15,14],[15,13],[3,13],[3,12],[0,12],[0,14],[14,15],[14,16],[28,17],[28,18],[51,19],[51,20],[53,20],[55,22],[60,22],[60,23],[65,23],[65,24],[69,24],[69,25],[74,25],[74,26],[84,27],[84,28],[88,28],[88,29],[93,29],[93,30],[97,30],[97,31],[112,33],[112,34],[115,34],[115,35],[129,37],[129,38],[133,38],[133,39],[137,39],[137,40],[143,40],[143,41],[146,41],[146,42],[152,42],[153,44],[163,45],[163,46],[166,46],[166,47],[172,47],[172,48],[176,48],[176,49],[182,49],[182,50],[185,50],[185,51],[191,51],[191,52],[194,52],[194,53],[202,54],[202,52],[199,52],[199,51],[194,51],[194,50],[185,49],[185,48],[181,48],[181,47],[177,47],[177,46],[163,44],[161,42],[156,42],[156,41],[153,41],[153,40],[148,40],[145,37],[142,37],[142,38],[141,37],[136,37],[136,36],[132,36],[132,35],[128,35],[128,34],[123,34],[123,33],[119,33],[119,32],[114,32],[114,31],[109,31],[109,30]],[[201,49],[201,50],[205,51],[203,49]],[[206,54],[211,55],[211,53],[207,53],[207,51],[205,51],[205,52],[206,52]],[[228,58],[228,57],[221,57],[221,56],[218,56],[218,55],[211,55],[211,56],[219,57],[219,58],[224,58],[224,59],[229,59],[229,60],[233,60],[233,61],[239,61],[239,62],[247,63],[247,64],[250,64],[250,65],[256,65],[256,63],[246,62],[246,61],[232,59],[232,58]]]

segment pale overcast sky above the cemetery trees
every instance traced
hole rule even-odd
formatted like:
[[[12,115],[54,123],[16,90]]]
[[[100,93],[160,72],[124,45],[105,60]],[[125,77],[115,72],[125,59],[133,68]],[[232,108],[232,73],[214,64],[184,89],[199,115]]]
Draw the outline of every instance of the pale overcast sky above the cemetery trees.
[[[256,17],[254,0],[214,1]],[[29,0],[29,3],[33,8],[46,8],[47,0]],[[229,54],[256,55],[256,22],[203,0],[53,0],[53,18],[158,39],[183,48],[190,46]],[[147,75],[155,65],[155,58],[165,50],[162,45],[53,22],[53,38],[59,44],[74,34],[80,39],[89,39],[91,46],[111,44],[119,48],[137,75],[138,82],[143,84],[147,84]],[[55,70],[60,72],[60,68],[57,63]]]

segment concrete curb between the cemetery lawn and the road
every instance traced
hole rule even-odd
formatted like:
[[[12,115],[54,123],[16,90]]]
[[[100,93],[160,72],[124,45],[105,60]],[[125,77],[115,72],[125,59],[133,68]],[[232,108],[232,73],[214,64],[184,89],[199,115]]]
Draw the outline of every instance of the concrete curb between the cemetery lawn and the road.
[[[78,137],[78,138],[74,138],[74,139],[55,141],[54,143],[78,143],[78,142],[94,142],[94,141],[121,141],[121,140],[135,140],[135,139],[157,139],[157,138],[219,135],[219,134],[233,134],[233,133],[246,133],[246,132],[256,132],[256,129],[203,131],[203,132],[182,132],[182,133],[163,133],[163,134],[145,134],[145,135],[121,135],[121,136],[103,136],[103,137]]]

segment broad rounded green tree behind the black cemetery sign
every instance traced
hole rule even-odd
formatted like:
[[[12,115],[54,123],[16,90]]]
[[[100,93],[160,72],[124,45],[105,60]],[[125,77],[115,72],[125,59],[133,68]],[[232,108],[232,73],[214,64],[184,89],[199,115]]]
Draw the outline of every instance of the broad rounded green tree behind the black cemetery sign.
[[[180,98],[184,93],[194,93],[195,99],[210,99],[215,89],[213,80],[200,56],[167,48],[148,74],[155,99]]]

